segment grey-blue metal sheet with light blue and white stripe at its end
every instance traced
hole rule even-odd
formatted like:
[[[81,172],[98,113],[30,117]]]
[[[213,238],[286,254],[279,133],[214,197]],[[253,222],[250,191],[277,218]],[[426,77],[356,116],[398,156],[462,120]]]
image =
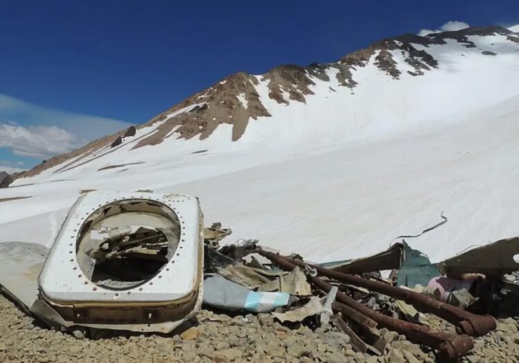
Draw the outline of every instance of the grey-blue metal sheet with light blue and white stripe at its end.
[[[203,304],[230,311],[265,313],[288,306],[293,299],[285,292],[255,292],[218,274],[203,281]]]

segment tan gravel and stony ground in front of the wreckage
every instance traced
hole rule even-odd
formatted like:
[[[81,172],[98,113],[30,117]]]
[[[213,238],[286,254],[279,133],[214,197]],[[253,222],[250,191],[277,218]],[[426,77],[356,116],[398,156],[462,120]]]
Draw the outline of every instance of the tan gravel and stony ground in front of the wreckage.
[[[435,328],[450,330],[430,317]],[[332,327],[289,329],[271,315],[229,317],[203,310],[180,335],[118,335],[76,339],[35,324],[0,296],[0,362],[435,362],[432,351],[385,329],[390,344],[381,357],[355,353]],[[475,339],[462,362],[519,362],[517,322],[501,319],[498,331]]]

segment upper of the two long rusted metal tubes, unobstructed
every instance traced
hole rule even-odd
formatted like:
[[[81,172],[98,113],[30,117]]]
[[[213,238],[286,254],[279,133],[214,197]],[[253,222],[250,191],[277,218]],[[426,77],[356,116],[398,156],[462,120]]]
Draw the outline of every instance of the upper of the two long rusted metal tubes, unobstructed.
[[[331,279],[336,279],[354,286],[367,288],[394,297],[395,299],[406,301],[407,304],[415,306],[415,308],[421,312],[437,315],[438,317],[441,317],[441,319],[445,319],[447,322],[454,324],[458,333],[465,333],[472,337],[480,337],[486,335],[489,331],[493,331],[497,327],[495,319],[490,315],[475,315],[466,310],[457,308],[456,306],[432,299],[431,297],[419,294],[412,290],[398,288],[379,281],[363,279],[362,277],[352,274],[332,271],[296,259],[287,258],[287,260],[297,266],[309,266],[315,268],[318,274],[321,274],[322,276],[330,277]]]

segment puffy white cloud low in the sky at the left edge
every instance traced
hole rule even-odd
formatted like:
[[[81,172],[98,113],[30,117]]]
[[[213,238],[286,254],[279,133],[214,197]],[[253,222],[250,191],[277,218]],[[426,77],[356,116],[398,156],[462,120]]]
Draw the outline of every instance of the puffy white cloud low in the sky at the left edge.
[[[0,124],[0,147],[8,147],[18,156],[49,158],[77,149],[85,142],[55,126]]]

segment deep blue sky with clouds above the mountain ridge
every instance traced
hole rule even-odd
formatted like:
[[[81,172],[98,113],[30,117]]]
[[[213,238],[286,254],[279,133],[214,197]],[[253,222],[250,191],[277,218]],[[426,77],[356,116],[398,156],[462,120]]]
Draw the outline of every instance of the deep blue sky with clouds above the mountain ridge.
[[[373,41],[519,23],[519,1],[0,0],[0,169],[146,122],[237,71]]]

